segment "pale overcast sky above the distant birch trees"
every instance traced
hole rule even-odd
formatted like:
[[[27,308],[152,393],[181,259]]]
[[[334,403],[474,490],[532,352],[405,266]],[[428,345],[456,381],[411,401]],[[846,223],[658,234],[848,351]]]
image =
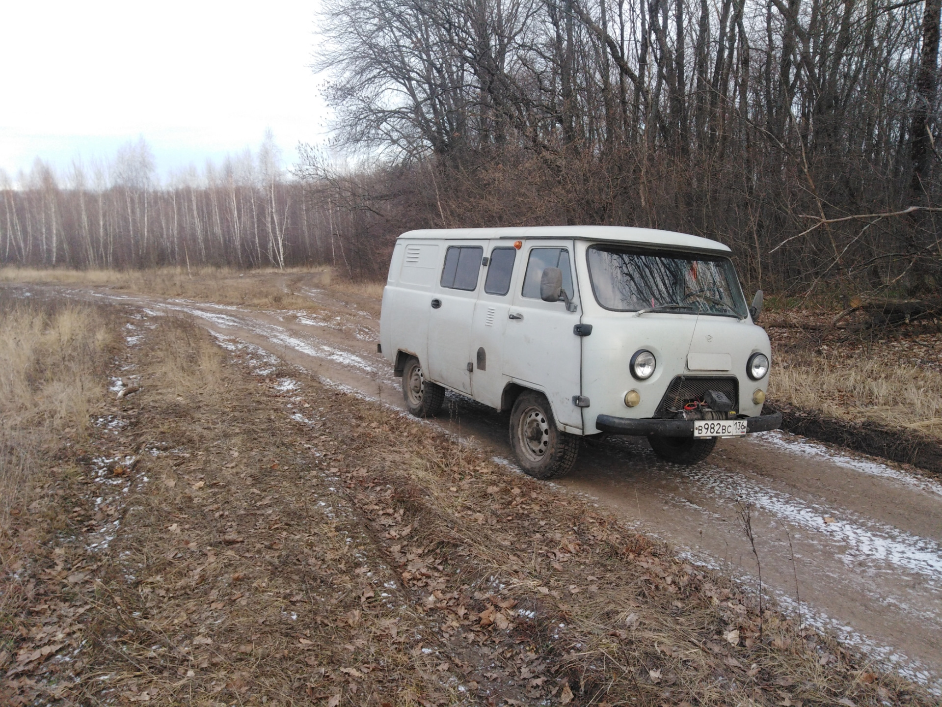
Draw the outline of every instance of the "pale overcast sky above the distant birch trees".
[[[67,167],[143,136],[158,173],[257,148],[290,162],[327,111],[308,65],[316,0],[3,3],[0,169]]]

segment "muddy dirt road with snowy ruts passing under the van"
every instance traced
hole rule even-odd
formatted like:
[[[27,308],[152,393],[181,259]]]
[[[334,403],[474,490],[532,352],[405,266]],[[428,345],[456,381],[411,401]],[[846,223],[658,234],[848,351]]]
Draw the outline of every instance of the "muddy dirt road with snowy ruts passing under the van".
[[[154,313],[187,312],[222,337],[256,344],[338,386],[401,407],[399,381],[376,353],[379,303],[314,287],[301,291],[322,307],[317,315],[104,290],[95,296]],[[455,397],[439,423],[511,458],[505,416]],[[755,586],[755,558],[738,518],[738,501],[751,501],[770,594],[793,609],[800,597],[806,620],[942,691],[939,482],[770,433],[723,440],[693,468],[658,461],[643,440],[583,445],[576,471],[559,484],[592,496],[691,559],[726,567]]]

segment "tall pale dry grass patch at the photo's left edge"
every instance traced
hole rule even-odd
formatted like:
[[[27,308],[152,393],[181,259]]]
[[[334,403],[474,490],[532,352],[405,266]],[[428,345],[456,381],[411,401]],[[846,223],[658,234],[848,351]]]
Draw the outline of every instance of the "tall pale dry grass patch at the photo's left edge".
[[[101,309],[0,294],[0,534],[63,442],[81,440],[115,341]]]

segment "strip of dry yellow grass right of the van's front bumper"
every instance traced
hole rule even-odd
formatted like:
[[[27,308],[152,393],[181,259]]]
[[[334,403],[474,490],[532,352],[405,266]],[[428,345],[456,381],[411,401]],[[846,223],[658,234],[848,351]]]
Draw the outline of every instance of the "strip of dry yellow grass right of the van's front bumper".
[[[773,400],[840,419],[942,436],[942,374],[869,358],[816,357],[772,368]]]

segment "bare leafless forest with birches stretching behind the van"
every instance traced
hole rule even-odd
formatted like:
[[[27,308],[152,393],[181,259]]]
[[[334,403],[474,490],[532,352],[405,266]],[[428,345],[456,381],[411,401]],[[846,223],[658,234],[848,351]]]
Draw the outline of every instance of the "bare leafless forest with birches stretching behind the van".
[[[328,0],[329,150],[163,185],[143,142],[38,162],[0,184],[0,257],[376,278],[409,228],[602,223],[721,240],[750,288],[935,291],[940,8]]]

